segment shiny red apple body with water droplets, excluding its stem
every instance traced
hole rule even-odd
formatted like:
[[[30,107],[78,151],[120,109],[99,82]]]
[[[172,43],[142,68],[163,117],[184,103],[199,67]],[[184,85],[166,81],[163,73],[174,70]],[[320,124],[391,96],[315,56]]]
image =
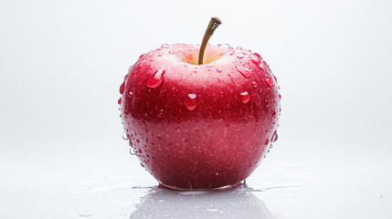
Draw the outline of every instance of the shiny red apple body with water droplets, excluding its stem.
[[[120,90],[130,145],[169,188],[238,184],[277,139],[281,95],[260,55],[208,45],[207,64],[196,65],[198,49],[163,45],[143,54]]]

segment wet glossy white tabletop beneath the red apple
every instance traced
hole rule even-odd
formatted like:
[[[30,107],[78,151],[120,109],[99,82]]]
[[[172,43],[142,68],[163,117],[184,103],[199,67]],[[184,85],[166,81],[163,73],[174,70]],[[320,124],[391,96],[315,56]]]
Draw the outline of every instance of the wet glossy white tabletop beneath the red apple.
[[[135,157],[5,159],[5,218],[390,218],[391,172],[382,163],[282,162],[271,156],[225,191],[158,187]],[[298,163],[297,163],[298,164]],[[12,172],[9,167],[12,167]]]

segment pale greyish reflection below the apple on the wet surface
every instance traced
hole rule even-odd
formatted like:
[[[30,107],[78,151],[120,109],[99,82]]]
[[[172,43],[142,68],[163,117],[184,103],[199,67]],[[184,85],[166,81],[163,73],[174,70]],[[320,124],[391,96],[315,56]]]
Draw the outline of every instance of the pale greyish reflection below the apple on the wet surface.
[[[130,218],[273,218],[254,192],[243,184],[222,191],[174,191],[157,186],[135,205]]]

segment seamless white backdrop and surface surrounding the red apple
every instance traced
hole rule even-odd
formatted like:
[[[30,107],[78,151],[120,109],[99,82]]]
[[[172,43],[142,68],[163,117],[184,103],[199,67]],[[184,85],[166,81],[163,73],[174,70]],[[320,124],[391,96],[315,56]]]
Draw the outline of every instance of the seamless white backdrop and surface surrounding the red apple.
[[[200,43],[218,16],[210,43],[257,51],[281,86],[279,141],[249,178],[262,192],[246,194],[259,201],[248,201],[264,218],[391,218],[391,8],[381,0],[0,1],[0,215],[139,218],[161,209],[148,203],[157,183],[122,141],[119,86],[142,53]],[[170,208],[179,198],[162,195],[173,203],[162,209],[185,218]],[[199,196],[215,202],[192,195],[185,209]],[[225,204],[193,210],[217,217],[233,209]]]

